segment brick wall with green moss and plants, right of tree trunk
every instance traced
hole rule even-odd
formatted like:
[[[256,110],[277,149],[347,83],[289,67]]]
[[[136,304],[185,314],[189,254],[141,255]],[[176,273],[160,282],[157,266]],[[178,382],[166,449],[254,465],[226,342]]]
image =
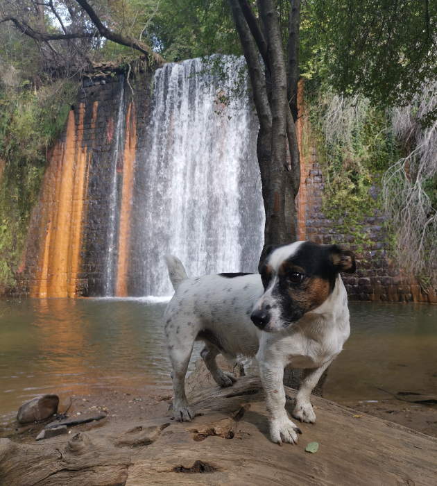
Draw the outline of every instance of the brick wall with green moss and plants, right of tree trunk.
[[[355,252],[357,272],[343,276],[350,300],[437,303],[437,285],[407,275],[394,258],[379,192],[382,173],[398,153],[391,134],[384,134],[381,113],[367,108],[368,119],[361,117],[361,125],[352,126],[352,143],[329,146],[317,118],[323,116],[321,103],[314,103],[311,93],[304,96],[303,83],[298,103],[299,239],[343,244]],[[371,142],[378,136],[384,140],[375,148]]]

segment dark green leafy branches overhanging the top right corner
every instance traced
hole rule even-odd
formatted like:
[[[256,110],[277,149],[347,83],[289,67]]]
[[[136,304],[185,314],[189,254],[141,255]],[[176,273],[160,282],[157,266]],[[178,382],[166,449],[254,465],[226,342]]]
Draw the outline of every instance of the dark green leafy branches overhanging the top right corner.
[[[308,53],[336,92],[399,106],[437,75],[435,1],[316,0],[304,10]]]

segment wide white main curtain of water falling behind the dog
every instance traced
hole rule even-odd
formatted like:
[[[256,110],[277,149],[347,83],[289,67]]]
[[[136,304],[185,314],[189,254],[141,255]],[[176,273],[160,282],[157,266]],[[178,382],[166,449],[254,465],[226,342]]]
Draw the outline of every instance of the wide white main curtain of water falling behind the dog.
[[[234,62],[224,94],[244,60]],[[194,59],[155,73],[146,149],[135,162],[136,296],[173,292],[166,253],[180,258],[189,276],[257,271],[264,240],[257,120],[244,97],[217,115],[212,76],[198,74],[204,71]]]

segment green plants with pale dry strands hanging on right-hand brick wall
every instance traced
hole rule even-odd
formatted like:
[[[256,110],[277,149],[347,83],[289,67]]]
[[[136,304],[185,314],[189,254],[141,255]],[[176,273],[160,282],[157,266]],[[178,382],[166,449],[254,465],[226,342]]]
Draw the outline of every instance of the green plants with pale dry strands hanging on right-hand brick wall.
[[[382,173],[400,158],[391,114],[368,99],[343,98],[319,81],[307,81],[306,103],[326,178],[323,212],[338,221],[341,234],[354,236],[358,251],[370,244],[366,217],[381,209]]]

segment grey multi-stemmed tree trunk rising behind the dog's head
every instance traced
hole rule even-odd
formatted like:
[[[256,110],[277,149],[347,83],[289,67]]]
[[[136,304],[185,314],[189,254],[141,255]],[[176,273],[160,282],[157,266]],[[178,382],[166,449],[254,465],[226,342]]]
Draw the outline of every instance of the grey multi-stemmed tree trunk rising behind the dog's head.
[[[284,49],[273,0],[258,0],[260,25],[248,0],[229,3],[259,117],[257,157],[266,212],[264,249],[259,260],[262,265],[267,246],[295,241],[295,196],[300,183],[298,140],[287,100]],[[264,76],[254,40],[264,60]],[[286,162],[287,142],[290,164]]]

